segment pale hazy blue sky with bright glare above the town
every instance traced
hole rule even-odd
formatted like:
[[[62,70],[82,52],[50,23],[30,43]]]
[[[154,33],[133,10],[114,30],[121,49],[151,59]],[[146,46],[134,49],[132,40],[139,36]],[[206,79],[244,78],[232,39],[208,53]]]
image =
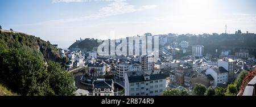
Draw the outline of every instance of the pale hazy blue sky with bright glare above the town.
[[[81,38],[256,32],[255,0],[0,0],[0,25],[61,48]]]

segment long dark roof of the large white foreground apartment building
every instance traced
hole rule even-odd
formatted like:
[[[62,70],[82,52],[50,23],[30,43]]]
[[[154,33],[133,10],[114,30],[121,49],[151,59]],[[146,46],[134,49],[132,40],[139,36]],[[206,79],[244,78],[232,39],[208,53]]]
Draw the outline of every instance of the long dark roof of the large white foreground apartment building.
[[[149,80],[144,80],[144,76],[148,76],[148,74],[135,74],[134,72],[127,72],[129,83],[137,83],[137,82],[145,82],[145,81],[151,81],[151,80],[159,80],[159,79],[165,79],[164,74],[150,74]]]

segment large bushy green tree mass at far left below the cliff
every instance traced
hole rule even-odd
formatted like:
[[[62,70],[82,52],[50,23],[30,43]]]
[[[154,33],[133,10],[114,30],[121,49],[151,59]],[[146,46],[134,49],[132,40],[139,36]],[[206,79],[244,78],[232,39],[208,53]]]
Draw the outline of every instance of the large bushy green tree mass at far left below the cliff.
[[[43,59],[29,50],[1,48],[0,71],[0,79],[20,95],[54,95]]]

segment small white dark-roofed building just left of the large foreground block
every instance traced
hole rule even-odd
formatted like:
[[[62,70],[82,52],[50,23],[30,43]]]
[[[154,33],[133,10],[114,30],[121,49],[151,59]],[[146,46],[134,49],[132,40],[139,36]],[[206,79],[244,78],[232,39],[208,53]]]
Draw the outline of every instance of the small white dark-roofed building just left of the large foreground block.
[[[113,80],[106,80],[106,79],[94,80],[93,96],[114,96]]]

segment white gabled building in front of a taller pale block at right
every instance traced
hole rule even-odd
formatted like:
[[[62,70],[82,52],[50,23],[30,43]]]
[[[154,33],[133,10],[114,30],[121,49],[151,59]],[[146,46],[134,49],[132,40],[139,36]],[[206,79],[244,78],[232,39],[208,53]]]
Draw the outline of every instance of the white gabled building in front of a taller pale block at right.
[[[214,79],[213,86],[217,86],[217,84],[223,84],[228,82],[228,71],[224,69],[224,67],[210,68],[207,69],[205,74],[212,76]]]

